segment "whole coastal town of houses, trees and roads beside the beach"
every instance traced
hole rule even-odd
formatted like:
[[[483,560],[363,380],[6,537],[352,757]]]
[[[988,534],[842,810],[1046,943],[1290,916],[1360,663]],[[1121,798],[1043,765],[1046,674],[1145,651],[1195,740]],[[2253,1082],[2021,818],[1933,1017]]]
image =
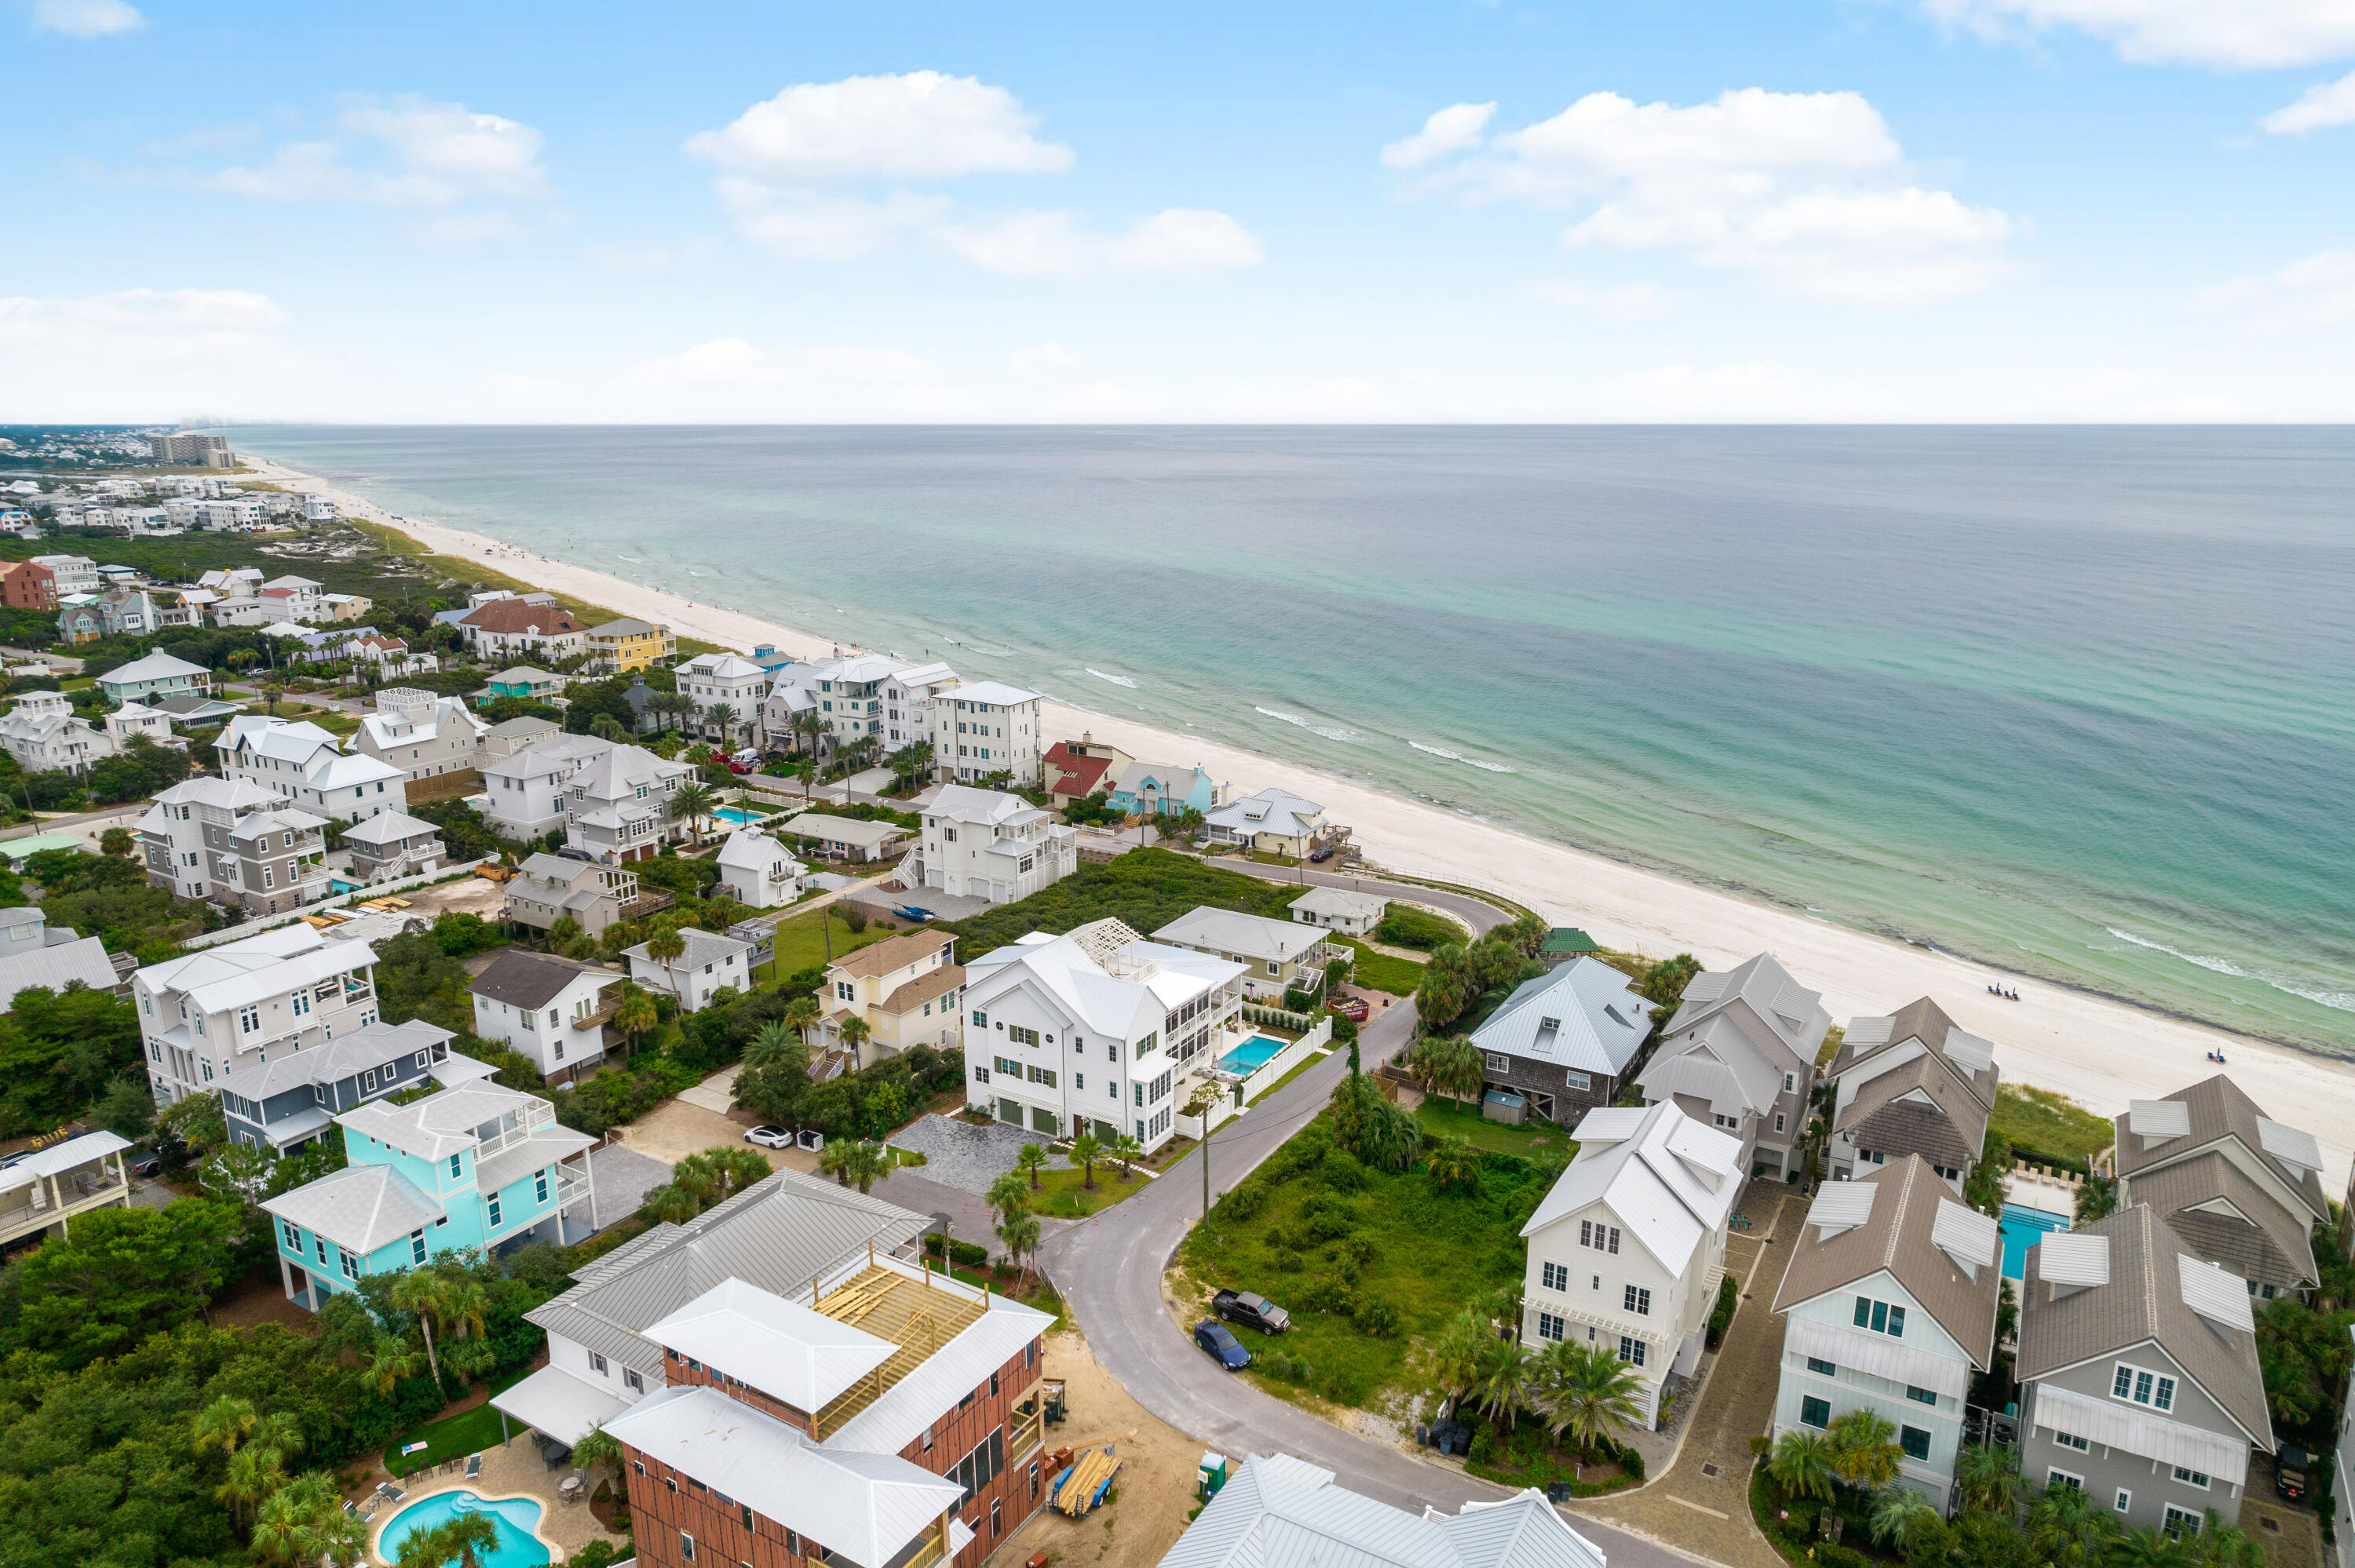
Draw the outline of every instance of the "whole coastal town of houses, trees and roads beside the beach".
[[[186,1406],[207,1561],[2355,1542],[2348,1208],[2221,1050],[2077,1104],[205,440],[0,516],[0,1337],[14,1427]]]

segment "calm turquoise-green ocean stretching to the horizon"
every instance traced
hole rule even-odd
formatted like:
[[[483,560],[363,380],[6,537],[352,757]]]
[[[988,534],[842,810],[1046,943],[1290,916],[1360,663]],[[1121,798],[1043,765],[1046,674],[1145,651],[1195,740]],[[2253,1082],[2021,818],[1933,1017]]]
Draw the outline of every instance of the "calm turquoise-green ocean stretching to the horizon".
[[[231,436],[393,513],[2355,1057],[2348,428]]]

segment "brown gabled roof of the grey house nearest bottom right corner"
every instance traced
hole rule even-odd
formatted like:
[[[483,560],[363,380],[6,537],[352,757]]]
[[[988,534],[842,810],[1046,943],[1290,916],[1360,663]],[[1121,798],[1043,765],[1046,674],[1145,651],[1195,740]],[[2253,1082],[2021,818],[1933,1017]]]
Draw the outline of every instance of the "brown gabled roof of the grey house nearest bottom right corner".
[[[2136,1344],[2157,1344],[2251,1443],[2273,1453],[2256,1335],[2202,1316],[2193,1297],[2211,1311],[2216,1304],[2202,1283],[2185,1288],[2193,1269],[2221,1271],[2188,1257],[2183,1238],[2148,1203],[2054,1234],[2072,1243],[2105,1238],[2108,1267],[2101,1283],[2056,1293],[2044,1281],[2044,1245],[2028,1250],[2028,1278],[2021,1281],[2021,1382],[2101,1361]],[[2247,1290],[2233,1281],[2230,1293],[2240,1295],[2240,1309],[2247,1314]]]

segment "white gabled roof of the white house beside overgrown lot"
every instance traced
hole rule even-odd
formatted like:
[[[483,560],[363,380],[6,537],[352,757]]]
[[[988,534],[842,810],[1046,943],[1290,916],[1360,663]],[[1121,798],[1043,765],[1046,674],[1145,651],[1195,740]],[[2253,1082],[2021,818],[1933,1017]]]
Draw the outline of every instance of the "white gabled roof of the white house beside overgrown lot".
[[[1684,1274],[1700,1238],[1726,1222],[1743,1189],[1740,1140],[1703,1128],[1667,1102],[1590,1111],[1571,1137],[1578,1156],[1521,1236],[1601,1203],[1660,1267]]]

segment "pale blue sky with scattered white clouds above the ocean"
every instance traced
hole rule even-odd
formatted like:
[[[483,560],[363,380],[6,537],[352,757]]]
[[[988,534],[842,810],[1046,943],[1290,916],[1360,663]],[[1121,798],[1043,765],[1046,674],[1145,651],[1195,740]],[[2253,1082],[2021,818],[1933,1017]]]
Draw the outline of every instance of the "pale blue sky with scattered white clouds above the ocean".
[[[2343,421],[2355,0],[0,0],[0,421]]]

